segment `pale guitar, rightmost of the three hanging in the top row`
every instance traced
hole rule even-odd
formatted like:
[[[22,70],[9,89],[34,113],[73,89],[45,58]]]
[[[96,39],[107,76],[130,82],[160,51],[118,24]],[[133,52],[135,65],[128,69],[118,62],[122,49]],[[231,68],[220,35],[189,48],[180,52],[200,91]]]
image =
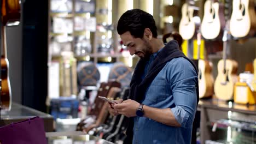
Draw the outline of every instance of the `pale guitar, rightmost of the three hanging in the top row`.
[[[233,0],[230,19],[230,33],[242,38],[253,35],[256,29],[256,15],[253,0]]]

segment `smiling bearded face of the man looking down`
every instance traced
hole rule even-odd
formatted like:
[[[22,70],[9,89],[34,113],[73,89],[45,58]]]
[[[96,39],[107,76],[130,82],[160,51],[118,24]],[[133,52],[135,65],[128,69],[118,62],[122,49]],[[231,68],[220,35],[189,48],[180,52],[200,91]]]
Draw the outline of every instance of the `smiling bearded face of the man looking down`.
[[[153,53],[152,46],[144,39],[145,36],[142,39],[134,38],[128,31],[121,34],[120,37],[131,55],[135,54],[140,58],[147,58]]]

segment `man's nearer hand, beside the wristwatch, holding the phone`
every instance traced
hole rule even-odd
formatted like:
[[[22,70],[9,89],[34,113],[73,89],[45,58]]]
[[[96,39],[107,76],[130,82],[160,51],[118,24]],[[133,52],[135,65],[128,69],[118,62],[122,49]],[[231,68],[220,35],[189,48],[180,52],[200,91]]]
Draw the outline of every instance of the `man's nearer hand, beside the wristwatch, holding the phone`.
[[[127,99],[123,101],[123,103],[113,105],[113,108],[117,113],[125,115],[126,117],[135,117],[138,107],[139,103],[131,99]]]

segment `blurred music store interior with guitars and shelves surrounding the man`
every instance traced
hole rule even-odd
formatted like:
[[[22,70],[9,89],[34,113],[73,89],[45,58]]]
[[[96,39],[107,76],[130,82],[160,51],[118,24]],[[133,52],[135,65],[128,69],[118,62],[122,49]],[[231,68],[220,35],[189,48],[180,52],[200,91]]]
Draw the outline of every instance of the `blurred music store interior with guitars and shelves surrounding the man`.
[[[255,0],[2,0],[0,137],[39,116],[47,143],[123,143],[127,117],[99,96],[128,98],[139,57],[117,22],[130,9],[198,69],[191,143],[256,143]]]

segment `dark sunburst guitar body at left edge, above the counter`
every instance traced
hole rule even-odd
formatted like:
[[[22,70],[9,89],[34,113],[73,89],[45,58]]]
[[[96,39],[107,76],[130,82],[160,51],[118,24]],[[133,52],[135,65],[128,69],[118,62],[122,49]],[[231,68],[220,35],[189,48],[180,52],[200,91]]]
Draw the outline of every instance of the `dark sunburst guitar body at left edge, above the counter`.
[[[11,109],[11,89],[9,80],[9,62],[7,58],[1,58],[1,103],[2,109]]]

